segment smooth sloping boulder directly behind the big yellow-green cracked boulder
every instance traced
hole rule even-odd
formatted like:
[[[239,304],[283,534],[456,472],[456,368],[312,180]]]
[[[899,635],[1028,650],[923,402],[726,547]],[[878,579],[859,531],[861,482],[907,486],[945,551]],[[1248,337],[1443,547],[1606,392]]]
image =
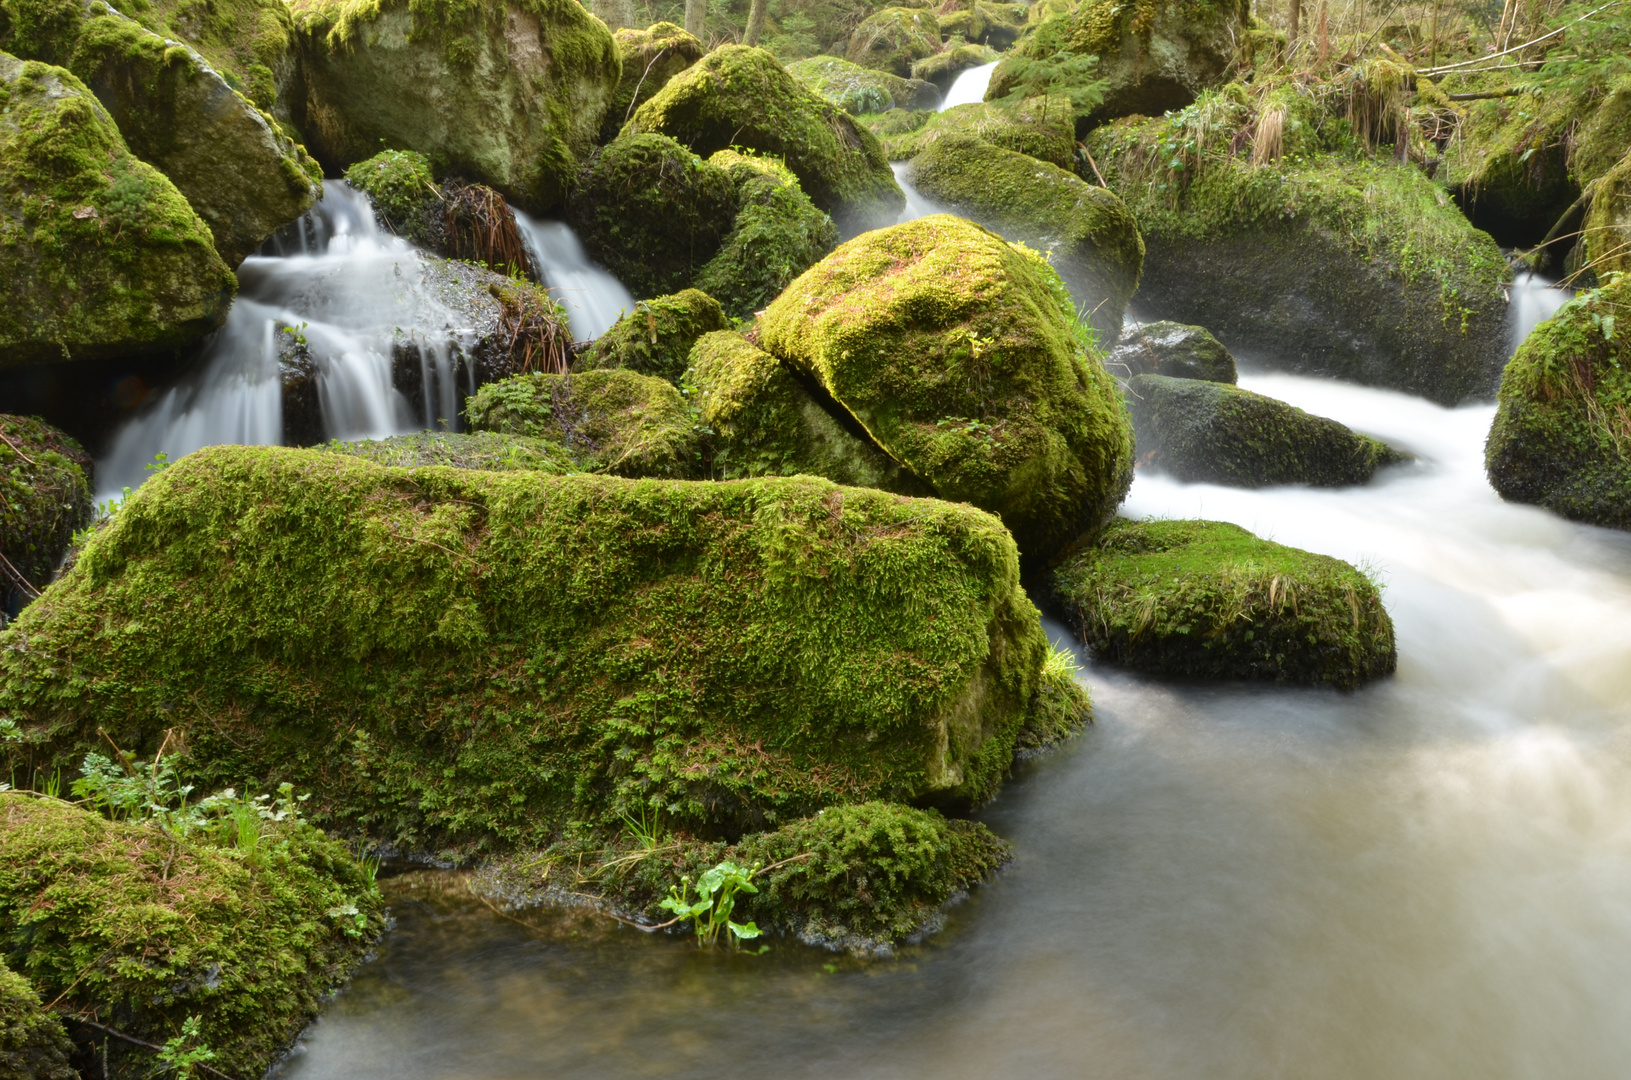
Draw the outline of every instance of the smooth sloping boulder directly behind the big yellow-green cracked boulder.
[[[1138,287],[1143,238],[1122,201],[1057,165],[967,135],[912,158],[912,184],[935,202],[1049,255],[1099,334],[1120,336]]]

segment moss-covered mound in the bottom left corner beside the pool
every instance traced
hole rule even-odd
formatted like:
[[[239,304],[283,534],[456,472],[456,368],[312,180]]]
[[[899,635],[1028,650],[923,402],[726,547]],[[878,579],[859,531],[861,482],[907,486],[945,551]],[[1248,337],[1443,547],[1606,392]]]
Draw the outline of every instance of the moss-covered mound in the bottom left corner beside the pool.
[[[251,853],[0,795],[7,963],[65,1011],[147,1042],[197,1016],[212,1067],[261,1075],[383,930],[378,892],[343,845],[298,822],[261,832]],[[155,1065],[117,1039],[108,1060],[116,1078]]]

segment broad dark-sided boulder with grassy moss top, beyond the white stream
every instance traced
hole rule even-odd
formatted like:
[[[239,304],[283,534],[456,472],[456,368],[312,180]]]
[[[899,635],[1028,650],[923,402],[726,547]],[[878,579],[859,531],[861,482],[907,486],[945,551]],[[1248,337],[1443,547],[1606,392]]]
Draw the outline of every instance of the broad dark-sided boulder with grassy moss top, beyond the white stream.
[[[1223,96],[1205,108],[1249,113]],[[1339,153],[1262,166],[1207,148],[1174,173],[1163,145],[1189,139],[1200,113],[1088,139],[1143,233],[1140,312],[1207,326],[1287,370],[1445,405],[1494,392],[1507,263],[1442,189],[1416,168]]]

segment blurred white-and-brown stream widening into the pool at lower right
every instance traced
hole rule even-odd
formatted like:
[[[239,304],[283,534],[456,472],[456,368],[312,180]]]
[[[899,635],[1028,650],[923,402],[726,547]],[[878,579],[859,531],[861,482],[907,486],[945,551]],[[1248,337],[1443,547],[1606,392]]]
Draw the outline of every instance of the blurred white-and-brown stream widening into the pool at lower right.
[[[1514,285],[1518,316],[1561,299],[1543,285]],[[1336,491],[1140,473],[1125,512],[1368,566],[1396,677],[1339,693],[1085,661],[1098,723],[980,814],[1014,863],[887,961],[705,954],[406,874],[396,932],[282,1075],[1623,1077],[1631,535],[1502,502],[1489,405],[1241,382],[1417,462]]]

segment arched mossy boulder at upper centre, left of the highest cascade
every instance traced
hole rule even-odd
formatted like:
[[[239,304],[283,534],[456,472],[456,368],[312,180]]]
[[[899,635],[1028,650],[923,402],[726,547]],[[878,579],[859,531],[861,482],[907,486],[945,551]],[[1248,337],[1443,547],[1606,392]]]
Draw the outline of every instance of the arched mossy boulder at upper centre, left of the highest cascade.
[[[639,106],[630,131],[670,135],[696,153],[747,147],[780,157],[843,233],[889,225],[905,207],[873,132],[763,49],[714,49]]]

